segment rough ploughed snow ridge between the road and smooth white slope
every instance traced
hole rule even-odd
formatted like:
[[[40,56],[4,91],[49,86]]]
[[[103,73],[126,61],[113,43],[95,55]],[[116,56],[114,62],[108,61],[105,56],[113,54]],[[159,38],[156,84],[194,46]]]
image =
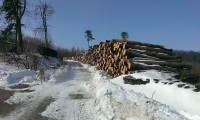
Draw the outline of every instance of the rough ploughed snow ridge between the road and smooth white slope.
[[[99,119],[186,120],[172,108],[113,83],[103,72],[84,67],[94,72],[93,85],[85,84],[85,88],[94,91]]]

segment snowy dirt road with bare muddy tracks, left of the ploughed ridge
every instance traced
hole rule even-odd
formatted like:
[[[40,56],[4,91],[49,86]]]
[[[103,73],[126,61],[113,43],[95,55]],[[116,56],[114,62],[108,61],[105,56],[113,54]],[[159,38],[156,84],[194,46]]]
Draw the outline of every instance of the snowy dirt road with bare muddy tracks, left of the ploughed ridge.
[[[49,80],[26,88],[7,88],[14,91],[9,99],[0,99],[13,109],[0,111],[1,120],[94,120],[95,99],[86,92],[83,82],[90,82],[91,73],[80,63],[67,62],[57,70],[49,70]],[[24,91],[24,92],[22,92]],[[28,91],[28,92],[27,92]],[[6,109],[6,106],[5,106]]]

